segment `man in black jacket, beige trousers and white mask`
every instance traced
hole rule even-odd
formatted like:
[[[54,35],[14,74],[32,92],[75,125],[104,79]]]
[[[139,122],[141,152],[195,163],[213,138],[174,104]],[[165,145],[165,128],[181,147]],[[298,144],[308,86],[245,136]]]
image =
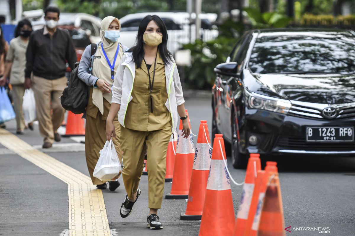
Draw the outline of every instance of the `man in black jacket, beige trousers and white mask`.
[[[33,88],[39,132],[44,137],[43,148],[51,148],[54,140],[60,141],[57,129],[64,120],[64,109],[59,97],[67,82],[65,64],[67,61],[74,69],[76,62],[69,32],[57,28],[59,13],[58,7],[47,7],[46,24],[31,34],[26,52],[25,87]]]

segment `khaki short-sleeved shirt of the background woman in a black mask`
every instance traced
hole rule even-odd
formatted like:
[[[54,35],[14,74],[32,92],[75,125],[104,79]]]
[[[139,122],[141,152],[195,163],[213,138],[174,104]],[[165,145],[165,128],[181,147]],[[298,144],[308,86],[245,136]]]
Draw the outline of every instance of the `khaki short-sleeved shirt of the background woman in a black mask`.
[[[6,61],[13,62],[10,75],[10,82],[13,85],[24,83],[27,45],[28,41],[27,43],[23,42],[20,36],[10,41],[10,48],[6,55]]]

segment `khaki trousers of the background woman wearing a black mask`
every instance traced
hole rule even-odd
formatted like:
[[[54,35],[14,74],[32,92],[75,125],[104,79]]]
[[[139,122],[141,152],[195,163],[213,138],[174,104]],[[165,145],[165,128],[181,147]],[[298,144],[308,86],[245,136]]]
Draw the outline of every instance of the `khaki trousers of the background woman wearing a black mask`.
[[[22,113],[22,102],[23,102],[23,95],[24,95],[24,85],[12,85],[12,99],[13,99],[13,109],[15,110],[16,114],[16,127],[18,129],[24,130],[25,123],[23,120],[23,113]]]

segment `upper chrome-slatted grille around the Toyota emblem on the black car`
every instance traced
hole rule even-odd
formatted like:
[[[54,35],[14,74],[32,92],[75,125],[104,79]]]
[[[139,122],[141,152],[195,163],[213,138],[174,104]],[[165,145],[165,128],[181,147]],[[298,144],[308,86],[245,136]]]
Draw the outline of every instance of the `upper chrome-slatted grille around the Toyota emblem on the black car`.
[[[347,104],[320,104],[291,101],[292,105],[289,110],[290,115],[311,117],[315,119],[326,119],[322,115],[323,109],[333,107],[337,110],[337,116],[334,119],[355,117],[355,103]]]

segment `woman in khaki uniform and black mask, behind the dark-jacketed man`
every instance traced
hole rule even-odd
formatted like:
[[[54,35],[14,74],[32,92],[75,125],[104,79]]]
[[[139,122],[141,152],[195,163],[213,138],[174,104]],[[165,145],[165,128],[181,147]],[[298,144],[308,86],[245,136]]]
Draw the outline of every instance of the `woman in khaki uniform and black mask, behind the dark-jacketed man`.
[[[5,73],[2,79],[9,77],[12,86],[13,108],[16,114],[16,133],[23,134],[25,123],[22,113],[24,95],[24,69],[26,67],[26,49],[29,35],[32,33],[32,24],[27,19],[18,22],[15,29],[15,38],[10,41],[10,49],[6,56]],[[11,73],[10,73],[11,72]],[[33,130],[33,123],[28,124]]]

